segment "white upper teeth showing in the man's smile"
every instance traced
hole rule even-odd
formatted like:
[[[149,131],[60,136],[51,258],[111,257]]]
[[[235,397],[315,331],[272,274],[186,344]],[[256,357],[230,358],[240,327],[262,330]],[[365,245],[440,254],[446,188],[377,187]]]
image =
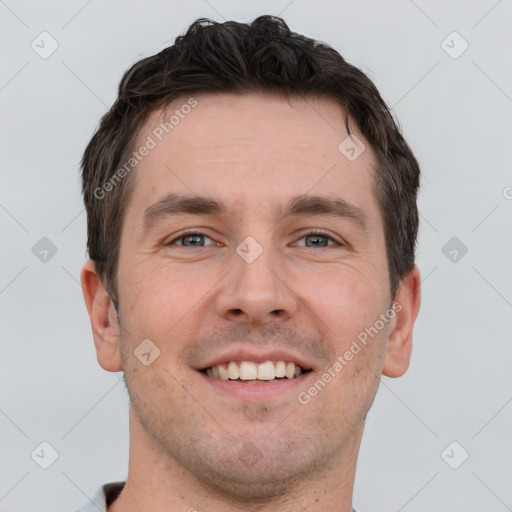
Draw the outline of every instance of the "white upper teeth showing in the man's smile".
[[[265,361],[264,363],[230,361],[217,364],[206,370],[208,377],[217,377],[222,380],[273,380],[283,377],[293,379],[301,373],[300,366],[285,361]]]

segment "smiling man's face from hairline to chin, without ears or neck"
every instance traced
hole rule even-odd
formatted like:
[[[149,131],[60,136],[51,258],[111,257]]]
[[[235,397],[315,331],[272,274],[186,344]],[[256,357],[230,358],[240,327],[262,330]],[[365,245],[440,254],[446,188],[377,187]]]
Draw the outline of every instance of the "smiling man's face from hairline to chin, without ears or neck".
[[[125,212],[121,360],[138,421],[164,457],[200,481],[261,495],[359,444],[393,320],[332,367],[391,306],[374,160],[353,123],[366,150],[350,161],[338,149],[347,132],[334,101],[196,99],[162,141],[158,112],[135,144],[150,136],[156,147],[134,171]],[[191,200],[177,211],[180,196]],[[160,355],[146,366],[134,351],[148,339]],[[250,363],[267,360],[309,371],[256,383],[206,375],[246,361],[250,377]]]

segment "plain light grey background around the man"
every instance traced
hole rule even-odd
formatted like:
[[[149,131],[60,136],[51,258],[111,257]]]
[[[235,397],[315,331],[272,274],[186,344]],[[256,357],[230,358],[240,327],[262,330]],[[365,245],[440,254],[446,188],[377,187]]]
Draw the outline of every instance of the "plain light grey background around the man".
[[[122,374],[96,362],[78,282],[86,258],[78,163],[122,72],[196,18],[265,13],[281,13],[368,73],[423,171],[412,362],[404,377],[382,380],[354,505],[512,510],[512,2],[6,0],[1,511],[72,511],[126,477],[128,396]],[[47,59],[31,48],[43,31],[59,44]],[[445,51],[463,48],[458,36],[446,40],[453,31],[469,44],[458,58]],[[442,252],[454,236],[468,248],[456,262]],[[42,237],[58,249],[46,263],[32,252]],[[59,455],[46,470],[31,458],[42,441]],[[462,448],[446,460],[469,453],[458,469],[441,456],[452,441]]]

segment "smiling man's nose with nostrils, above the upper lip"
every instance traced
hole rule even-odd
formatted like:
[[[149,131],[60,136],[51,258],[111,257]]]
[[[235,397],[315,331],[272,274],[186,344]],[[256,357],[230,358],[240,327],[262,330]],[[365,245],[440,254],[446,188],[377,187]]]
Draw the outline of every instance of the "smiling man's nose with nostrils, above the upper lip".
[[[298,299],[278,256],[271,249],[263,250],[254,261],[240,254],[232,256],[232,271],[217,296],[217,313],[231,322],[251,325],[292,318]]]

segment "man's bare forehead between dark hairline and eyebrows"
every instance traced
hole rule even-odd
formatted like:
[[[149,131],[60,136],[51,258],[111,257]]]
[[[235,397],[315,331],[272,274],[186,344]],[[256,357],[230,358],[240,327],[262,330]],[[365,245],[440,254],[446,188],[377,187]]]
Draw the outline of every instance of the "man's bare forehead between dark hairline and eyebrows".
[[[350,131],[364,141],[355,123]],[[181,97],[150,116],[136,149],[134,201],[149,204],[173,193],[216,197],[243,210],[269,211],[276,200],[304,195],[350,196],[369,216],[374,158],[368,144],[350,161],[345,112],[332,99],[263,94]],[[142,204],[139,204],[142,206]]]

